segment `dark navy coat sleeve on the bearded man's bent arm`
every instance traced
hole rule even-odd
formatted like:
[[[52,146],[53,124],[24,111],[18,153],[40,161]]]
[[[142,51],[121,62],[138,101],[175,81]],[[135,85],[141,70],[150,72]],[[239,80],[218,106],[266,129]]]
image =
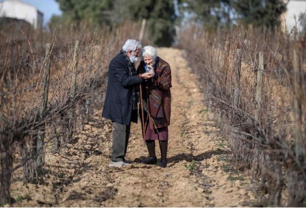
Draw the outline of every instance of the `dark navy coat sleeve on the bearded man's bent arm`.
[[[129,76],[125,66],[120,62],[114,62],[113,71],[116,79],[121,83],[123,87],[140,83],[142,80],[138,75]]]

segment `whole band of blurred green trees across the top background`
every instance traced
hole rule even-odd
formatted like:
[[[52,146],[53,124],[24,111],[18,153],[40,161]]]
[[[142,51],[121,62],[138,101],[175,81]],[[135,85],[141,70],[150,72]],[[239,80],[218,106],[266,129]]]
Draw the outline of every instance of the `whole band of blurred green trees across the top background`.
[[[238,21],[255,27],[280,23],[286,10],[283,0],[56,0],[63,12],[52,21],[120,24],[127,19],[147,19],[147,33],[157,46],[170,46],[174,25],[190,18],[209,30]],[[179,9],[175,10],[174,7]]]

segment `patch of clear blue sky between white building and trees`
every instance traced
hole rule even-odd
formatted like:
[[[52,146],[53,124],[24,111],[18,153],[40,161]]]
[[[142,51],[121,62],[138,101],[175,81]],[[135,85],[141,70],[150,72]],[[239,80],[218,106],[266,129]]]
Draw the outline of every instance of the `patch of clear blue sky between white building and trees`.
[[[21,0],[38,8],[43,13],[43,25],[50,20],[53,15],[60,15],[58,3],[55,0]]]

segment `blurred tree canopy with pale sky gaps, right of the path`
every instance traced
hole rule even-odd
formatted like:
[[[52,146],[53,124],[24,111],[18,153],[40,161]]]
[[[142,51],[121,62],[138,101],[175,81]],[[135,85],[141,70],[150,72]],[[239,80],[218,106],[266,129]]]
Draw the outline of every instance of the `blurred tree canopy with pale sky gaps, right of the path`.
[[[280,23],[286,3],[283,0],[184,0],[181,11],[185,10],[208,29],[229,27],[238,21],[244,25],[271,27]]]

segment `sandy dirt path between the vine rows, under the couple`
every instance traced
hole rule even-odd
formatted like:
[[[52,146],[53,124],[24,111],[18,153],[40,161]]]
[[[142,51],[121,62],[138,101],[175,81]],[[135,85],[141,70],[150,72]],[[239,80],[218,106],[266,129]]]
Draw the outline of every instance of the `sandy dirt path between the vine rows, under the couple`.
[[[168,167],[138,163],[148,156],[140,123],[132,124],[127,159],[131,166],[108,166],[112,127],[109,121],[85,126],[67,151],[48,153],[41,185],[12,186],[18,206],[56,207],[243,207],[252,206],[249,178],[231,170],[226,142],[210,121],[210,109],[183,51],[158,48],[172,68],[172,123]],[[156,155],[160,158],[156,143]]]

